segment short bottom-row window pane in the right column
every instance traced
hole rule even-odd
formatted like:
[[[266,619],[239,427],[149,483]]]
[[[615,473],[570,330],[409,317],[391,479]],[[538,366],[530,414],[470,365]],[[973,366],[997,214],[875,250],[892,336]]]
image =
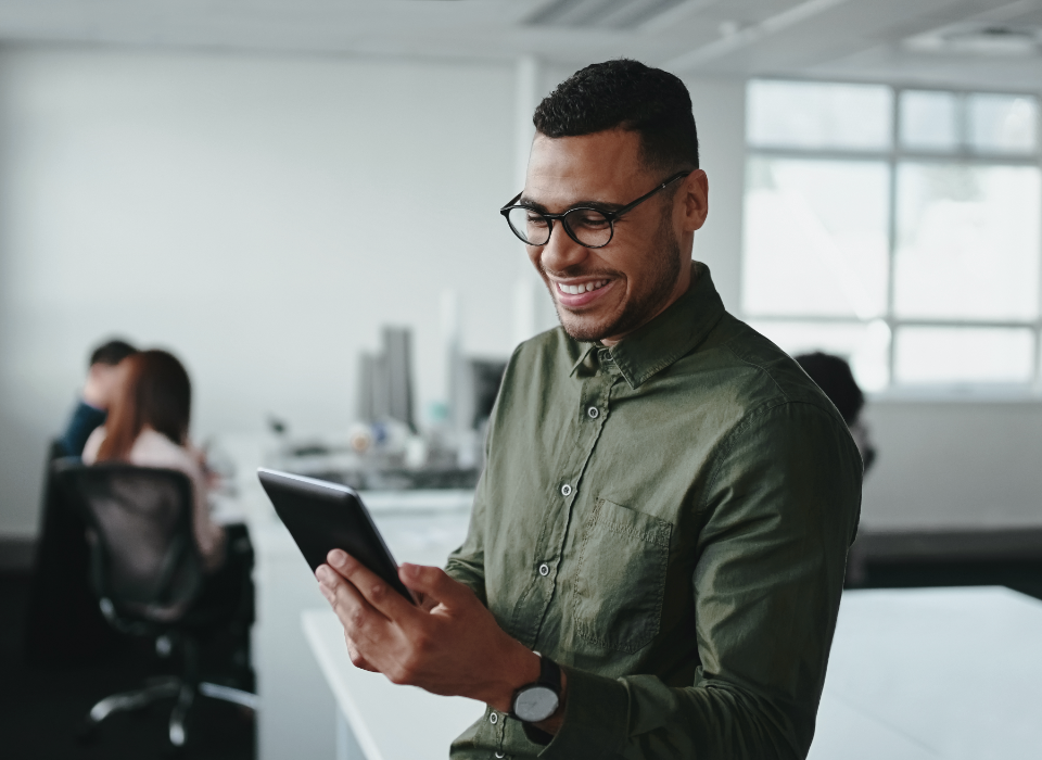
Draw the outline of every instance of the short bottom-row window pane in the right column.
[[[1027,328],[903,327],[894,342],[901,383],[1027,383],[1034,335]]]

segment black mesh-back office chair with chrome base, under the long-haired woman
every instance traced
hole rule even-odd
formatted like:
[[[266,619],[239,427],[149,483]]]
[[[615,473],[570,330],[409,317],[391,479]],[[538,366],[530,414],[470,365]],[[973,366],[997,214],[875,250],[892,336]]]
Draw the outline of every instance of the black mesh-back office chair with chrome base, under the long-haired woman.
[[[228,620],[228,609],[195,606],[203,563],[192,531],[192,484],[176,470],[71,460],[53,465],[58,481],[88,525],[90,583],[105,620],[123,633],[153,638],[180,653],[181,674],[105,697],[87,715],[90,736],[106,717],[176,697],[169,739],[185,745],[185,722],[196,696],[256,710],[256,695],[207,683],[199,674],[199,637]]]

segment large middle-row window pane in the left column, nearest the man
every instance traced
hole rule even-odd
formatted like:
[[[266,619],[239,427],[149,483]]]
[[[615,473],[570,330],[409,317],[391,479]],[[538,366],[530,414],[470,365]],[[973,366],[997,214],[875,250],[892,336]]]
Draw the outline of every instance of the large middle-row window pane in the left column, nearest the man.
[[[747,314],[867,320],[887,303],[882,162],[749,159]]]

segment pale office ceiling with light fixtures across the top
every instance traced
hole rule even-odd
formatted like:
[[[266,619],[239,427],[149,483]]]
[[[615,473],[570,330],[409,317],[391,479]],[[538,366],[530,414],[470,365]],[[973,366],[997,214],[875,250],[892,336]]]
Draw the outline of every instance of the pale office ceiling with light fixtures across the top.
[[[1042,0],[0,0],[0,40],[1042,89]]]

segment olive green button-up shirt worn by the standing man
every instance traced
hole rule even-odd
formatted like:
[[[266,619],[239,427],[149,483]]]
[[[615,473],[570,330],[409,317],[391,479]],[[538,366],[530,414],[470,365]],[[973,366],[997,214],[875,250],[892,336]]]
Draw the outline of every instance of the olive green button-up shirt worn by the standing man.
[[[808,752],[862,461],[818,388],[692,266],[611,349],[557,328],[507,366],[446,569],[564,668],[568,694],[548,745],[487,709],[453,758]]]

